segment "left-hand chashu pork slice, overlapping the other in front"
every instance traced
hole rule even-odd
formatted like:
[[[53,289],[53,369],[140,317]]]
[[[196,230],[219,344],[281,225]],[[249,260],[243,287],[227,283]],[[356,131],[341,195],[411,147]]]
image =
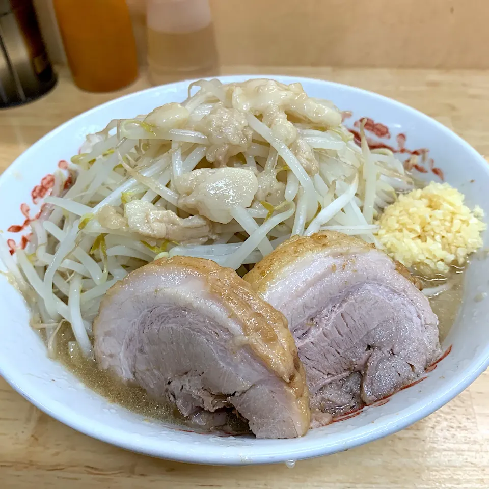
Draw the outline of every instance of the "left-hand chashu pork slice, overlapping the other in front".
[[[94,337],[99,368],[184,416],[235,409],[258,438],[309,428],[287,321],[230,268],[174,257],[133,271],[108,290]]]

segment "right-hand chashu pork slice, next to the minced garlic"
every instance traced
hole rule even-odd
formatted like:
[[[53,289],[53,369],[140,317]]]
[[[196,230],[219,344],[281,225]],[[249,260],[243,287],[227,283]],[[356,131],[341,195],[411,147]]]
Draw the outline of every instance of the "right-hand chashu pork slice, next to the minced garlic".
[[[339,415],[382,399],[440,355],[438,318],[409,271],[361,239],[294,236],[244,279],[287,318],[311,409]]]

